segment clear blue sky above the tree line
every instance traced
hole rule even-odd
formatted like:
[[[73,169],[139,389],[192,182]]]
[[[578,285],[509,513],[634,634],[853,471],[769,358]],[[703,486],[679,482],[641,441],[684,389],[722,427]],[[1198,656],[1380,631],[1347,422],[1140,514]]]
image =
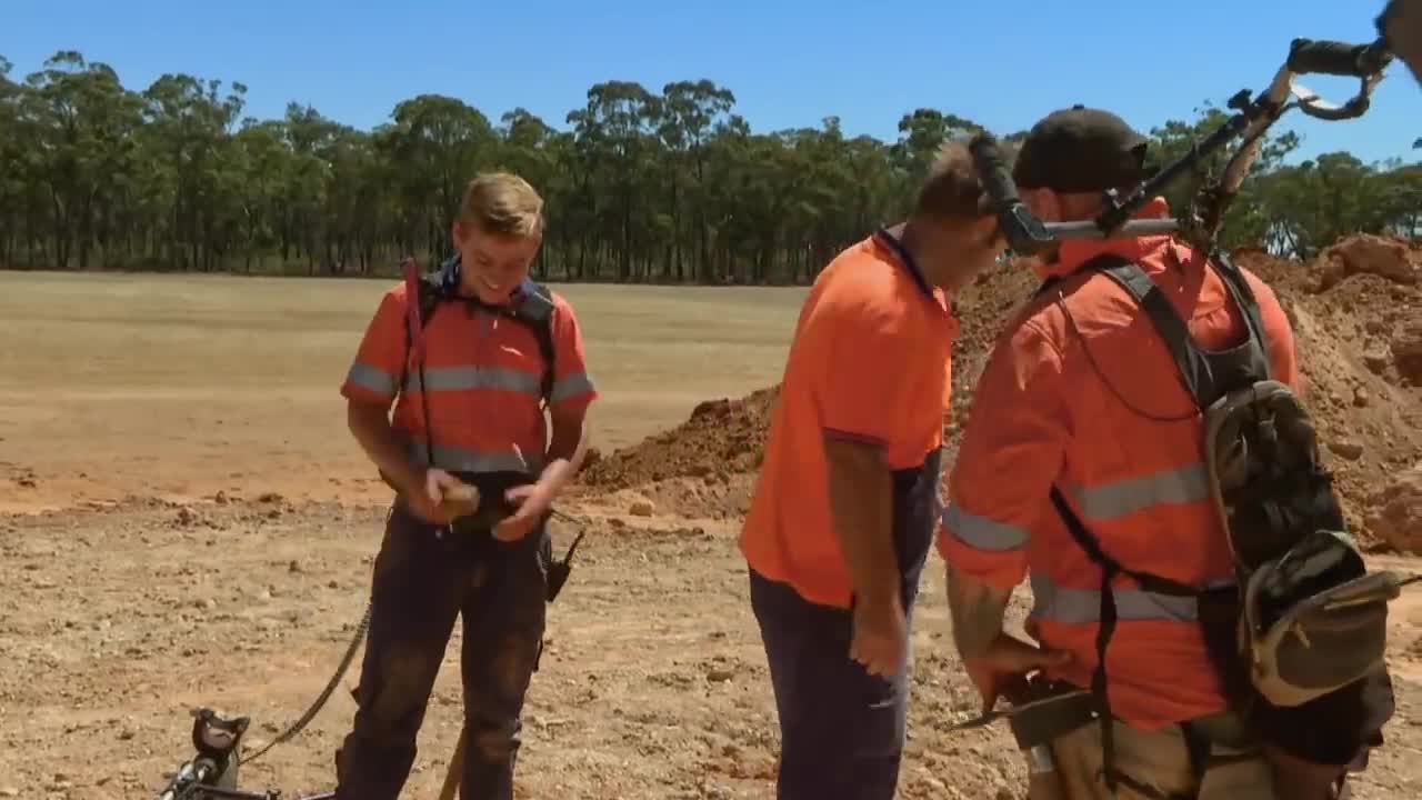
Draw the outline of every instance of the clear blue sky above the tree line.
[[[1295,36],[1371,40],[1381,6],[0,0],[0,56],[14,63],[11,77],[74,48],[112,65],[131,88],[165,71],[240,81],[247,114],[279,117],[294,100],[360,128],[419,93],[459,97],[493,121],[522,105],[563,128],[597,81],[660,90],[710,78],[735,93],[757,131],[838,115],[850,135],[893,140],[899,117],[920,105],[1011,132],[1085,102],[1149,130],[1206,100],[1223,105],[1260,88]],[[1321,77],[1308,85],[1342,95],[1357,84]],[[1422,91],[1395,64],[1365,118],[1291,112],[1284,127],[1303,135],[1298,157],[1347,148],[1365,161],[1415,159]]]

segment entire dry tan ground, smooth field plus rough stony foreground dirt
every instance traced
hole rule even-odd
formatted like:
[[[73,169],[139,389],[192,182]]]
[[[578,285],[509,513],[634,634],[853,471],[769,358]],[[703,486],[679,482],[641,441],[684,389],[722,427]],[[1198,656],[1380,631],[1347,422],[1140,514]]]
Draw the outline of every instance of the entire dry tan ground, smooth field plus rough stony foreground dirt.
[[[0,799],[154,797],[189,752],[188,709],[250,715],[257,744],[316,698],[364,608],[387,500],[337,394],[384,286],[0,272]],[[604,453],[775,383],[803,296],[557,290],[604,393]],[[565,505],[589,537],[550,609],[518,797],[774,797],[775,717],[735,520],[660,501],[630,515],[629,500]],[[559,549],[572,528],[556,528]],[[900,797],[1020,797],[1005,730],[943,730],[977,705],[939,571],[934,557],[914,619]],[[1399,608],[1399,648],[1416,646],[1419,614]],[[444,780],[458,652],[455,633],[407,797]],[[287,800],[328,789],[356,676],[243,786]],[[1357,797],[1422,796],[1418,698],[1399,680],[1388,747]]]

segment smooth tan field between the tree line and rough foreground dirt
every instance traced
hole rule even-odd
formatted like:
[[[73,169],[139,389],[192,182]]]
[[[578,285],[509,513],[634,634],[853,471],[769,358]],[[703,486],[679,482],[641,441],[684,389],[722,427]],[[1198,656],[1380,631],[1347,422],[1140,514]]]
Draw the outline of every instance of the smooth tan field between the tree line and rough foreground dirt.
[[[390,280],[0,272],[0,511],[381,491],[337,394]],[[609,451],[779,380],[803,289],[557,286]],[[734,353],[734,357],[727,357]],[[707,367],[705,364],[714,364]],[[33,483],[20,487],[16,481]]]

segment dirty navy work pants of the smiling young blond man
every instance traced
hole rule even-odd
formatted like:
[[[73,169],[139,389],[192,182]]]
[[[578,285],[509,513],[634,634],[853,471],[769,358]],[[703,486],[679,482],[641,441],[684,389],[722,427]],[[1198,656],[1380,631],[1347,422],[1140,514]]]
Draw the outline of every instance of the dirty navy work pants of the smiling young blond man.
[[[356,722],[336,753],[338,800],[395,800],[415,760],[445,645],[464,618],[461,797],[509,800],[523,696],[543,643],[549,538],[444,530],[397,501],[375,557]]]

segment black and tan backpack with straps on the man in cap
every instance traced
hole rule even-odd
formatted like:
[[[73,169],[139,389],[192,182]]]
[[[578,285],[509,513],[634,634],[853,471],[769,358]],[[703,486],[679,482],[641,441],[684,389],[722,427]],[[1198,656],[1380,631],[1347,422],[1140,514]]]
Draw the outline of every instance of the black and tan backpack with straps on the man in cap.
[[[1057,487],[1051,502],[1072,540],[1101,567],[1098,666],[1091,692],[1102,725],[1105,779],[1133,783],[1113,770],[1112,716],[1105,656],[1116,622],[1112,579],[1125,574],[1149,592],[1194,598],[1212,665],[1230,709],[1253,739],[1321,764],[1348,764],[1381,744],[1392,716],[1386,675],[1388,602],[1404,581],[1369,572],[1347,532],[1320,460],[1317,431],[1304,403],[1271,377],[1258,303],[1243,273],[1212,253],[1249,336],[1223,350],[1190,337],[1170,300],[1129,259],[1102,255],[1082,265],[1115,280],[1142,307],[1173,357],[1202,414],[1210,497],[1233,555],[1234,582],[1189,586],[1132,569],[1106,554]],[[1042,285],[1038,293],[1057,279]],[[1186,727],[1196,774],[1209,742]]]

